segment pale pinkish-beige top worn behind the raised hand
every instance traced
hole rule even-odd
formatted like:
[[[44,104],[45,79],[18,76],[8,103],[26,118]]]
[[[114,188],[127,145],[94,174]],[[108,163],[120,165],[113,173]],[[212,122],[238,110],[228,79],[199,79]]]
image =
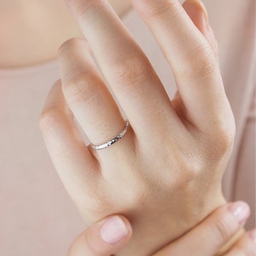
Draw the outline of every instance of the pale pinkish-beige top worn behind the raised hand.
[[[218,38],[224,84],[237,125],[224,193],[228,200],[247,201],[254,212],[255,1],[204,2]],[[134,11],[123,20],[172,96],[172,73],[147,27]],[[84,230],[49,160],[38,127],[45,97],[59,78],[56,61],[0,70],[0,255],[66,255],[67,246]],[[254,225],[252,217],[248,226]]]

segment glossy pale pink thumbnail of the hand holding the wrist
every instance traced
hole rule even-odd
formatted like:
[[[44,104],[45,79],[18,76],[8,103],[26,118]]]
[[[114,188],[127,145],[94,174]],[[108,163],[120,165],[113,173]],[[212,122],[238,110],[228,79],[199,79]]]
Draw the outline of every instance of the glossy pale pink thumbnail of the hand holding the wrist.
[[[102,225],[102,240],[109,244],[115,244],[121,241],[128,234],[128,230],[122,218],[113,217]]]

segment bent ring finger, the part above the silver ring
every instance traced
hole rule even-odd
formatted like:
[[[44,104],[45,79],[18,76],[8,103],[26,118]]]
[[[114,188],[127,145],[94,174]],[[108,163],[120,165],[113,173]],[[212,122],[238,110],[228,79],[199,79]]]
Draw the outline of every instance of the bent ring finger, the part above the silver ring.
[[[63,44],[59,63],[63,94],[90,142],[101,144],[115,137],[124,129],[125,120],[97,71],[85,40],[73,38]],[[126,137],[128,147],[132,140]]]

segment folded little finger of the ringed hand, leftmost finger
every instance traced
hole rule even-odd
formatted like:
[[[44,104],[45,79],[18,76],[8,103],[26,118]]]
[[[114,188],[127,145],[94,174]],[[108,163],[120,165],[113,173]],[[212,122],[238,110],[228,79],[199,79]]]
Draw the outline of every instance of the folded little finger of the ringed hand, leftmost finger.
[[[73,200],[78,198],[77,195],[84,195],[84,183],[96,185],[96,160],[74,124],[73,113],[67,108],[62,95],[61,81],[57,81],[49,92],[40,128],[55,169],[68,193]]]

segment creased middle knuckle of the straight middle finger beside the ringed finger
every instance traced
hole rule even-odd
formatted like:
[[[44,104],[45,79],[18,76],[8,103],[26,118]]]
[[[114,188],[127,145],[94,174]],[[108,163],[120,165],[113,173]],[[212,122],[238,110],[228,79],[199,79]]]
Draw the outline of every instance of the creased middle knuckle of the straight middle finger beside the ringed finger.
[[[113,67],[115,79],[119,84],[142,84],[152,73],[152,67],[146,56],[136,55],[117,61]]]

